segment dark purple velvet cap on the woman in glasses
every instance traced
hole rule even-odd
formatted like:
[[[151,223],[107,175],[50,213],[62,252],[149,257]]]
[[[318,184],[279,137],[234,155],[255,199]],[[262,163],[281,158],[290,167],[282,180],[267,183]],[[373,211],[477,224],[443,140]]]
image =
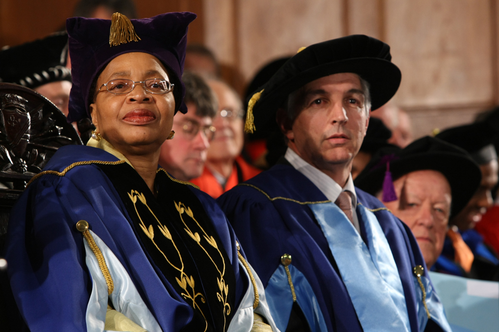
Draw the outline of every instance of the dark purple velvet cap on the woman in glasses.
[[[69,95],[68,122],[90,117],[88,95],[97,73],[115,57],[144,52],[158,58],[173,83],[175,112],[187,112],[181,77],[187,45],[187,27],[196,18],[191,12],[170,12],[151,18],[131,19],[138,41],[110,46],[111,20],[71,17],[66,20],[73,86]]]

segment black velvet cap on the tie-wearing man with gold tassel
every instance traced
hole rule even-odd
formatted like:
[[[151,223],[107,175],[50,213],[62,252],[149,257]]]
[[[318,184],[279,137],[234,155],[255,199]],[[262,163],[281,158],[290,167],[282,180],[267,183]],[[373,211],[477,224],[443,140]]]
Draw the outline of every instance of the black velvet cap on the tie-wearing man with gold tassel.
[[[324,76],[354,73],[370,85],[371,110],[388,102],[397,92],[402,74],[391,62],[390,46],[365,35],[351,35],[313,44],[284,63],[263,86],[254,104],[256,130],[275,129],[275,112],[290,93]]]

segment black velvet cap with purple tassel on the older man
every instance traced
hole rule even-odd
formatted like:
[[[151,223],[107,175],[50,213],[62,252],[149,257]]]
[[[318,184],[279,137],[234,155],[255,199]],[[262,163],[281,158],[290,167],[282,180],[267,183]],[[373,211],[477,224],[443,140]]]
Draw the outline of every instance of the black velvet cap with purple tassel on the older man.
[[[388,161],[394,181],[415,171],[442,173],[451,186],[451,218],[463,210],[482,181],[482,172],[468,152],[441,139],[425,136],[404,149],[385,148],[378,151],[355,179],[355,186],[376,195],[383,186]]]

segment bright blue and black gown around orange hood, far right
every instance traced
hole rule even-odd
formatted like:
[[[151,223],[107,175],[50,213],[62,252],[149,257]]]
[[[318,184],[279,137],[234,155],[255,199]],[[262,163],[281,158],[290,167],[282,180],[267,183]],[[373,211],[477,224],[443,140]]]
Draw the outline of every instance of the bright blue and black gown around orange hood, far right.
[[[467,273],[454,261],[454,246],[448,236],[445,237],[442,254],[432,266],[432,271],[466,278],[499,281],[499,259],[484,243],[484,237],[475,229],[460,231],[460,233],[463,241],[475,256],[470,272]]]

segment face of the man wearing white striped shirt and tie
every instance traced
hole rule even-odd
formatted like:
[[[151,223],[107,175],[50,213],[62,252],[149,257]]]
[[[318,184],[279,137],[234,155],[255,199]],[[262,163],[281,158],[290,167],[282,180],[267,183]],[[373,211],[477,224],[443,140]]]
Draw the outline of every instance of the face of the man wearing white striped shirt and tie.
[[[356,74],[333,74],[308,83],[288,100],[295,115],[291,127],[284,128],[289,146],[318,169],[346,165],[349,172],[369,122],[364,98]]]

